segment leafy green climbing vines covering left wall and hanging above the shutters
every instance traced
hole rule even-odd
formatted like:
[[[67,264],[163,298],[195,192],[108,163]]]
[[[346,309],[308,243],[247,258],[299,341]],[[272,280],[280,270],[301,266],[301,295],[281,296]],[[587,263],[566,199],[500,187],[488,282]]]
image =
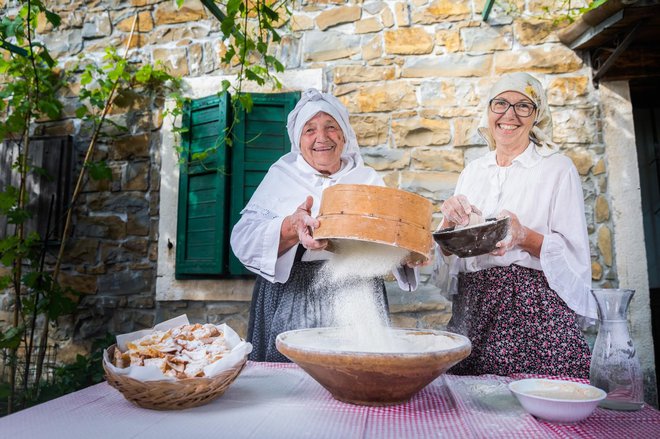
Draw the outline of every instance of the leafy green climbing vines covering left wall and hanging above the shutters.
[[[10,291],[11,297],[11,321],[0,326],[0,351],[4,354],[4,364],[0,365],[0,399],[4,402],[0,403],[0,414],[101,379],[97,349],[89,358],[78,357],[75,364],[58,367],[54,374],[59,380],[56,383],[42,380],[49,329],[62,317],[74,313],[78,304],[79,294],[62,286],[59,279],[73,207],[86,179],[112,177],[108,165],[95,160],[93,153],[99,139],[107,142],[112,132],[126,129],[107,117],[113,106],[121,107],[136,93],[151,98],[145,105],[169,97],[175,105],[165,116],[177,117],[184,104],[179,78],[161,64],[129,60],[128,49],[120,55],[117,49],[108,48],[100,61],[83,58],[70,70],[63,69],[48,48],[35,39],[39,20],[46,20],[56,32],[60,16],[40,0],[16,3],[16,14],[5,14],[0,19],[0,119],[4,121],[0,124],[0,142],[17,151],[9,170],[15,178],[0,188],[0,216],[5,217],[7,230],[11,232],[0,236],[0,291]],[[184,2],[177,0],[177,3],[181,6]],[[280,14],[290,14],[286,2],[204,0],[204,3],[212,3],[220,11],[221,32],[227,48],[222,62],[236,73],[234,85],[225,81],[218,92],[232,88],[236,103],[249,109],[252,106],[249,95],[240,93],[244,81],[280,86],[273,72],[283,71],[283,66],[271,54],[270,45],[280,39],[275,27]],[[72,89],[80,90],[75,116],[92,128],[71,201],[65,218],[60,219],[65,226],[57,256],[54,262],[46,263],[48,237],[28,232],[26,227],[34,214],[29,207],[31,195],[27,181],[30,176],[45,174],[31,162],[30,145],[36,125],[62,118],[67,87],[69,93]],[[175,126],[175,131],[181,130]],[[36,364],[32,364],[34,354]]]

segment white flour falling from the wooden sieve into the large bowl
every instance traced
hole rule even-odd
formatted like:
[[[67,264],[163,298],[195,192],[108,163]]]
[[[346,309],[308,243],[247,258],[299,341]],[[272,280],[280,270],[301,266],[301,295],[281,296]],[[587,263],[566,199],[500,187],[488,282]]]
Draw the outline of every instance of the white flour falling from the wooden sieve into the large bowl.
[[[389,316],[380,279],[401,265],[408,251],[357,240],[333,244],[316,279],[332,296],[333,326],[350,331],[356,346],[387,351]]]

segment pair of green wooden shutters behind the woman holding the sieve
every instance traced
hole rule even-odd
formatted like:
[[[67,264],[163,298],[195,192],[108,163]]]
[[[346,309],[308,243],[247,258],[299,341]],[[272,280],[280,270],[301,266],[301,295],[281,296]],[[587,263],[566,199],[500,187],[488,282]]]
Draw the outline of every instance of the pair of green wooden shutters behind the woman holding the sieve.
[[[251,96],[252,110],[239,110],[233,126],[227,94],[193,100],[185,109],[177,279],[250,274],[233,255],[229,236],[270,165],[291,148],[286,118],[300,93]],[[226,137],[232,139],[229,147]]]

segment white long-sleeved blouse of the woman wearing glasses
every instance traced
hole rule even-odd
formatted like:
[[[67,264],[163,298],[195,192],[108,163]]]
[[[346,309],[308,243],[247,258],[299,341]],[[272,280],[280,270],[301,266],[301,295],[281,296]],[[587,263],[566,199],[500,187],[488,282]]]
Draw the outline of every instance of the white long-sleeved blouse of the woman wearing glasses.
[[[582,183],[573,162],[561,154],[540,155],[534,145],[510,166],[498,166],[495,151],[468,164],[454,191],[481,210],[484,218],[502,210],[543,235],[540,257],[515,247],[503,256],[445,257],[436,248],[436,284],[457,293],[459,272],[517,264],[542,270],[554,291],[576,313],[597,318],[591,296],[591,256]]]

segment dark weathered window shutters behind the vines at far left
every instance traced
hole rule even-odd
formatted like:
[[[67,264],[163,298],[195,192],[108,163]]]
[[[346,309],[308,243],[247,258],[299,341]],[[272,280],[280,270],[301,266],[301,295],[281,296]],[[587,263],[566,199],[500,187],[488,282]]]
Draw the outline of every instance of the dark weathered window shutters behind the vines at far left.
[[[58,244],[64,229],[66,210],[71,199],[73,142],[70,136],[33,137],[30,140],[28,174],[27,233],[37,232],[47,244]],[[19,151],[13,142],[0,142],[0,191],[9,185],[18,187],[18,172],[10,172]],[[0,238],[14,233],[14,225],[0,216]]]

